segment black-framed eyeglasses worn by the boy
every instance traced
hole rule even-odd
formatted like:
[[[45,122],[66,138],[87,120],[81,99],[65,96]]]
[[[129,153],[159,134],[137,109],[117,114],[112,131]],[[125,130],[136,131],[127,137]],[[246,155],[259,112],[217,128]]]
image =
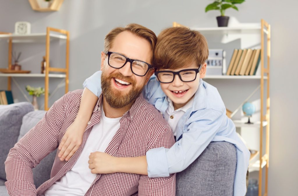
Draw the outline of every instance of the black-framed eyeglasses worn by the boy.
[[[192,82],[197,78],[197,73],[200,72],[202,66],[195,69],[182,69],[180,71],[156,71],[154,74],[161,83],[171,83],[175,79],[175,75],[178,75],[182,82]]]

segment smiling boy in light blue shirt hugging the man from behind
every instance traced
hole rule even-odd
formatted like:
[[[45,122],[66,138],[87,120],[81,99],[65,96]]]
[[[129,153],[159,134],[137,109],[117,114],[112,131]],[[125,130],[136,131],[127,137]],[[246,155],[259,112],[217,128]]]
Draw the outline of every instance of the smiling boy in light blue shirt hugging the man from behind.
[[[208,58],[206,39],[186,27],[167,28],[158,36],[154,58],[155,76],[150,78],[143,95],[162,112],[176,143],[170,149],[151,149],[143,157],[119,158],[101,153],[97,163],[93,164],[96,168],[90,169],[97,173],[126,172],[167,177],[186,169],[210,142],[226,141],[237,149],[234,195],[245,195],[250,153],[238,137],[234,123],[226,116],[217,89],[202,80]],[[130,66],[127,64],[125,66]],[[66,131],[65,144],[61,142],[59,146],[61,160],[72,151],[66,157],[69,160],[80,146],[80,142],[73,141],[80,139],[86,124],[79,120],[89,121],[101,93],[100,77],[101,71],[98,71],[84,82],[87,89],[82,95],[77,121]]]

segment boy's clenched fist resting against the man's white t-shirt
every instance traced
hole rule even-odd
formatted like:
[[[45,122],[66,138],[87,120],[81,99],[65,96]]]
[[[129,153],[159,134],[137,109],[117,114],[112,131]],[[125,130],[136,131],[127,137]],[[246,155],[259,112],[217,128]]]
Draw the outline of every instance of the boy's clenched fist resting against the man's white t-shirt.
[[[91,152],[89,156],[89,169],[92,174],[115,173],[117,157],[104,152]]]

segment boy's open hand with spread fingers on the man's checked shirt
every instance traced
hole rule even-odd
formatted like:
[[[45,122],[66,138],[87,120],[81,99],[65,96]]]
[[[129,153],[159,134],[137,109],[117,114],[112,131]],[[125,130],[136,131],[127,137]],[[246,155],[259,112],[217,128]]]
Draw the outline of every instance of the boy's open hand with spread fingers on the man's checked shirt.
[[[68,161],[75,154],[83,142],[85,128],[86,126],[83,123],[76,120],[67,128],[58,147],[60,150],[58,157],[61,161],[64,159]]]

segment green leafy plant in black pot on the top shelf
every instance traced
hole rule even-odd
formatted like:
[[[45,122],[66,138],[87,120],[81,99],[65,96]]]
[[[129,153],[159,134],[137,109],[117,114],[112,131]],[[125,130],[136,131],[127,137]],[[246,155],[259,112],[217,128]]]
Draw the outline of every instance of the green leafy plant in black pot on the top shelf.
[[[219,10],[221,12],[221,16],[217,16],[217,24],[218,27],[227,27],[229,22],[229,16],[225,16],[225,11],[228,8],[233,8],[238,11],[238,7],[235,4],[241,4],[245,0],[215,0],[213,3],[207,5],[205,8],[205,12],[210,10]]]

